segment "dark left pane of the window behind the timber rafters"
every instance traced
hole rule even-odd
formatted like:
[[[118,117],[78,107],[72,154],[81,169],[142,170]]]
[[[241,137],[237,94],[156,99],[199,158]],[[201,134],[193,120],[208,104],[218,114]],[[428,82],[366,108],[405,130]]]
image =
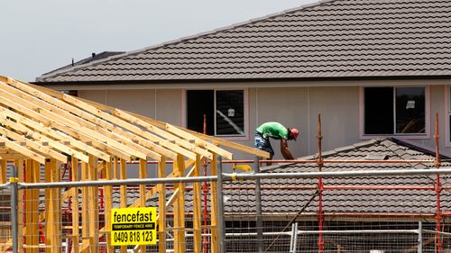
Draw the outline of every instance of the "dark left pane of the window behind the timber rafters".
[[[207,117],[207,134],[215,134],[213,90],[187,91],[187,128],[192,131],[204,132],[204,114]]]

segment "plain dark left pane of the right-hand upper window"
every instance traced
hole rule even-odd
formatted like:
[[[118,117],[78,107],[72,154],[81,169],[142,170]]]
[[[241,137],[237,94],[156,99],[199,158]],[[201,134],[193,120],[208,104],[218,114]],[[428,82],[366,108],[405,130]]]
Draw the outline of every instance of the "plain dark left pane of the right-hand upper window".
[[[364,133],[393,133],[393,88],[364,88]]]

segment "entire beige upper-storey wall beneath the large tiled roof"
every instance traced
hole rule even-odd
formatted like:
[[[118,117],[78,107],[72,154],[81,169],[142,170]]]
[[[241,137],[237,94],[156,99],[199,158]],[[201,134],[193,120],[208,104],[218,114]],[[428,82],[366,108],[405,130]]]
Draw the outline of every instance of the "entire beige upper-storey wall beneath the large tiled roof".
[[[426,84],[426,83],[425,83]],[[361,85],[364,85],[362,83]],[[396,85],[396,84],[392,84]],[[419,85],[416,83],[416,85]],[[223,85],[224,86],[224,85]],[[211,88],[205,86],[201,88]],[[224,86],[226,87],[226,86]],[[236,87],[236,86],[235,86]],[[242,87],[242,86],[241,86]],[[410,140],[433,149],[435,113],[439,115],[440,150],[451,153],[445,143],[444,86],[430,86],[430,138]],[[296,158],[318,151],[318,113],[322,122],[322,150],[327,151],[360,141],[359,97],[360,86],[286,86],[250,87],[247,90],[249,113],[248,135],[242,140],[233,140],[253,147],[254,129],[262,122],[277,121],[288,127],[299,129],[299,140],[289,142]],[[133,90],[80,90],[78,95],[102,104],[140,113],[163,122],[183,126],[184,92],[181,88],[144,88]],[[281,158],[280,142],[272,140]],[[252,158],[233,150],[235,158]]]

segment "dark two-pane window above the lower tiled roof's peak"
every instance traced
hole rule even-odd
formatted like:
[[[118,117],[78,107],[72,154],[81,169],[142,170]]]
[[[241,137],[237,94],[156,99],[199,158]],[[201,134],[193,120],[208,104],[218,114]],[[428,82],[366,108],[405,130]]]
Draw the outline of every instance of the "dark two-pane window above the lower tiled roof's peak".
[[[364,134],[425,133],[425,87],[364,88]]]

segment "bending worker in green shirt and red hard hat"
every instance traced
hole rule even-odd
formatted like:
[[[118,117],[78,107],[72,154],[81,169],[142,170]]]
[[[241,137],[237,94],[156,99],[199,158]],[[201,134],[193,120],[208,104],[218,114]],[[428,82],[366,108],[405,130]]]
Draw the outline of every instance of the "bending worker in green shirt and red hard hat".
[[[254,145],[255,148],[270,153],[270,160],[274,156],[274,150],[271,147],[270,138],[281,140],[281,155],[285,159],[292,160],[290,149],[288,149],[287,140],[298,139],[299,131],[283,126],[280,122],[265,122],[255,130]],[[271,165],[271,162],[266,163]]]

